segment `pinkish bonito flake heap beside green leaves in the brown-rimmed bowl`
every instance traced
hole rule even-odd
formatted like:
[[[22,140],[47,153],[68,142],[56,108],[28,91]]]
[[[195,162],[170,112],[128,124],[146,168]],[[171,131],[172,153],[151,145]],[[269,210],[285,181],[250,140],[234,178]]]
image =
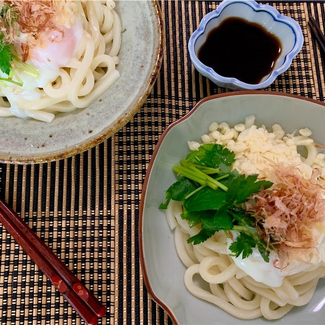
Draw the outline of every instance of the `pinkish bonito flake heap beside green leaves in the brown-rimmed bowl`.
[[[261,190],[246,204],[254,212],[256,224],[262,225],[265,240],[278,246],[280,254],[317,248],[325,219],[320,170],[314,169],[312,177],[304,179],[298,168],[281,163],[272,164],[268,173],[272,187]]]

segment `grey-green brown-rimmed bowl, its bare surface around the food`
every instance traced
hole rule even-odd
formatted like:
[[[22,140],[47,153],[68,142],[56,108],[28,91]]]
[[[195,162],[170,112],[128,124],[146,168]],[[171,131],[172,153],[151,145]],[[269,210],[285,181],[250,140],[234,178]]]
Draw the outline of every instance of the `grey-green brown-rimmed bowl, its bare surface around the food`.
[[[200,101],[160,137],[145,177],[139,217],[139,247],[143,278],[150,296],[175,324],[324,324],[325,279],[318,282],[312,300],[278,320],[239,320],[215,305],[192,296],[183,281],[185,267],[174,246],[165,212],[158,206],[175,181],[172,167],[189,152],[187,140],[201,142],[212,121],[235,125],[254,114],[256,125],[279,123],[288,133],[310,127],[312,138],[324,145],[325,104],[300,96],[268,91],[238,91]]]

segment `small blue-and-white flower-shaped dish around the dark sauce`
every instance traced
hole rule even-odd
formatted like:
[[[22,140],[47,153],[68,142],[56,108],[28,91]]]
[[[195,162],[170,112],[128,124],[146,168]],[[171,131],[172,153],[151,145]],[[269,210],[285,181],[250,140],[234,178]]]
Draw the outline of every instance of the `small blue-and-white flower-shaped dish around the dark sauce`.
[[[272,72],[258,84],[248,84],[236,78],[220,76],[212,68],[205,66],[198,58],[198,51],[206,41],[209,31],[229,17],[239,17],[262,25],[281,42],[281,53]],[[233,90],[259,89],[269,86],[278,75],[289,68],[303,43],[304,38],[299,24],[289,17],[280,15],[275,8],[258,5],[253,0],[224,0],[216,10],[203,17],[199,28],[193,32],[189,39],[188,51],[193,66],[215,84]]]

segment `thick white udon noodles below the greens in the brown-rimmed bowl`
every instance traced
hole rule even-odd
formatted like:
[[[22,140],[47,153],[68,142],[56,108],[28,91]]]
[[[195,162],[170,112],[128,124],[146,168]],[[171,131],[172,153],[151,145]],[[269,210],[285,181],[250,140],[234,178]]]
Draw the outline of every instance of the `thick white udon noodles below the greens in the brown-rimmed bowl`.
[[[187,243],[187,239],[200,230],[197,226],[189,228],[188,222],[181,218],[181,213],[180,203],[171,201],[167,219],[174,230],[177,254],[187,268],[184,274],[185,286],[192,295],[215,304],[235,317],[281,318],[294,306],[307,304],[319,278],[325,276],[324,266],[311,265],[303,272],[285,277],[280,287],[269,287],[257,282],[239,269],[228,255],[223,232],[216,233],[199,245]],[[209,284],[210,291],[193,281],[196,274]]]

